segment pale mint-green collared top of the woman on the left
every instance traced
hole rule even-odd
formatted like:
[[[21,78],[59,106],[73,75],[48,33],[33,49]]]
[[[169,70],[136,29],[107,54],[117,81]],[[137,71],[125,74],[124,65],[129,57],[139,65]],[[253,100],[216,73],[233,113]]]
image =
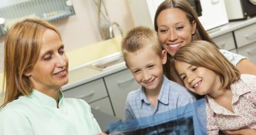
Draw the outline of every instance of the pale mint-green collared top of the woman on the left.
[[[0,110],[1,135],[84,135],[98,134],[100,126],[82,99],[55,99],[33,90],[30,96],[19,96]]]

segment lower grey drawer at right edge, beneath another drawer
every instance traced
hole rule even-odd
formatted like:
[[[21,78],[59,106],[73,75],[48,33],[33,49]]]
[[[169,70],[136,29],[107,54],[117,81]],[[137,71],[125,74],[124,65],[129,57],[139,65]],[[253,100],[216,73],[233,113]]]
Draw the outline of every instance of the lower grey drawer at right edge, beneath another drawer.
[[[256,42],[237,49],[238,54],[246,56],[250,61],[256,64]]]

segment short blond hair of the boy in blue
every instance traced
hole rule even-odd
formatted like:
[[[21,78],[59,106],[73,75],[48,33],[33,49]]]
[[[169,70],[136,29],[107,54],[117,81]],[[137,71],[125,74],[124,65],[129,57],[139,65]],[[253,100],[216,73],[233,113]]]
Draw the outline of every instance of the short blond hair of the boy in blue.
[[[154,30],[143,26],[133,28],[122,39],[122,56],[127,61],[128,53],[137,52],[145,46],[150,46],[158,56],[162,56],[163,49]]]

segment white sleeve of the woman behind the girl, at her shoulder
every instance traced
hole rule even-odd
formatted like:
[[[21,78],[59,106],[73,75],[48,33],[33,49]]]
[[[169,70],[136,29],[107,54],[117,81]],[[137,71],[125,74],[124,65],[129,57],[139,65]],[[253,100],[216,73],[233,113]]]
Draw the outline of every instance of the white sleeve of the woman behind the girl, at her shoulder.
[[[219,50],[221,54],[223,54],[228,61],[230,61],[233,65],[237,66],[237,63],[242,59],[248,59],[246,56],[241,56],[240,54],[235,54],[233,52],[229,52],[227,50]]]

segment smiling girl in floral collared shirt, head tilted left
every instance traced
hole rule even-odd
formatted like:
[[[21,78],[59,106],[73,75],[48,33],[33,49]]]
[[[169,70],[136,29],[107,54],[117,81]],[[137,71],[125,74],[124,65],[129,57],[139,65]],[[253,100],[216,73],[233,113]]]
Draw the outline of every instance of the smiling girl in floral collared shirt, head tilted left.
[[[208,134],[232,134],[237,129],[256,134],[256,76],[240,74],[207,41],[180,48],[174,65],[188,90],[205,95]]]

